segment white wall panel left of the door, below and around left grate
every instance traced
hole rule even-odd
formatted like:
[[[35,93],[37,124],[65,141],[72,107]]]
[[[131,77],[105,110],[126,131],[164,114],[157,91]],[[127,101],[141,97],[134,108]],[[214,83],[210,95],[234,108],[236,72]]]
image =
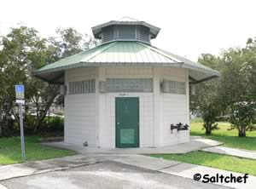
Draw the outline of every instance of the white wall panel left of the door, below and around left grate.
[[[65,83],[84,81],[96,77],[95,68],[67,70]],[[68,91],[68,89],[67,89]],[[96,94],[65,95],[65,135],[67,143],[96,146]]]

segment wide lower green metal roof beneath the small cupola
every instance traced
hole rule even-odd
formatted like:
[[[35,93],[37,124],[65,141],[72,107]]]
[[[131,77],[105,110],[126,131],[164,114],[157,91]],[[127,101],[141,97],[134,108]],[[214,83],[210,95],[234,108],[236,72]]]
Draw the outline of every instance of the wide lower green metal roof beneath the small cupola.
[[[48,77],[54,73],[60,74],[64,70],[84,66],[184,67],[189,69],[189,76],[195,81],[219,76],[217,71],[207,66],[140,42],[105,43],[44,66],[35,71],[34,75],[49,82]],[[52,77],[54,78],[59,77]]]

